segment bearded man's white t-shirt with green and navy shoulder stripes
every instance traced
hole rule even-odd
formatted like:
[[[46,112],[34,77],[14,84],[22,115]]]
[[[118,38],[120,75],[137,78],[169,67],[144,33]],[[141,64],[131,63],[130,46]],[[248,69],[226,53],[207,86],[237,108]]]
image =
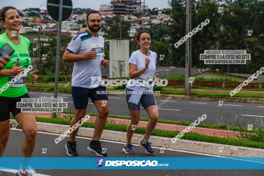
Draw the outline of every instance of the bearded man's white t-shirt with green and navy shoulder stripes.
[[[100,35],[93,37],[88,30],[74,36],[67,51],[74,54],[86,54],[94,48],[96,59],[85,59],[75,62],[72,72],[72,86],[97,88],[102,85],[101,55],[104,55],[104,38]]]

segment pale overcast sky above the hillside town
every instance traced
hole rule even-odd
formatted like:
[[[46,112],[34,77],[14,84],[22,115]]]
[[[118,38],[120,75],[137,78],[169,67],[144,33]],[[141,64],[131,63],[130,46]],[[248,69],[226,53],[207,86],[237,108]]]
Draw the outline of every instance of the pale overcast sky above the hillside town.
[[[109,4],[111,0],[72,0],[73,8],[91,8],[99,10],[101,4]],[[141,2],[144,2],[141,0]],[[30,7],[47,7],[47,0],[1,0],[0,8],[5,6],[13,6],[19,10],[23,10]],[[146,5],[150,9],[157,8],[168,8],[168,0],[146,0]]]

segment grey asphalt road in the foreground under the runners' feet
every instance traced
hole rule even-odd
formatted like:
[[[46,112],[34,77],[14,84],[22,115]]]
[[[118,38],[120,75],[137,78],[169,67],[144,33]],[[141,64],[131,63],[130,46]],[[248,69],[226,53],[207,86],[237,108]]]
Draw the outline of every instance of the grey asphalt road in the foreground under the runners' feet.
[[[59,142],[57,145],[54,142],[56,138],[55,134],[38,132],[38,139],[35,147],[35,151],[32,157],[69,157],[66,154],[66,149],[64,148],[65,142],[68,137],[63,141]],[[6,150],[4,151],[3,157],[21,157],[21,144],[24,134],[21,130],[11,130],[10,138]],[[77,138],[77,151],[79,157],[96,157],[96,155],[86,149],[87,145],[91,141],[89,138]],[[128,157],[128,154],[122,152],[122,147],[124,143],[104,141],[102,144],[103,148],[107,148],[107,154],[109,157]],[[46,154],[42,153],[42,148],[47,148]],[[166,150],[164,153],[158,153],[159,149],[155,148],[157,154],[154,156],[147,155],[145,151],[136,146],[134,148],[135,154],[129,155],[129,157],[212,157],[205,154],[176,151],[176,150]],[[177,164],[177,163],[175,163]],[[210,163],[208,163],[210,164]],[[85,175],[252,175],[258,176],[263,175],[263,170],[37,170],[37,173],[52,175],[52,176],[64,176],[64,175],[74,175],[74,176],[85,176]],[[13,176],[14,174],[4,173],[3,176]]]

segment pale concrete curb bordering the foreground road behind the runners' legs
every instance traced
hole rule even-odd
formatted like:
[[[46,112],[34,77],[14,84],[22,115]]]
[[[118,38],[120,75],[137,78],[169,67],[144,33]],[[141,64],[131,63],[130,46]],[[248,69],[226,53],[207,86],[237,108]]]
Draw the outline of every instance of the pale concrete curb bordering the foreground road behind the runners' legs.
[[[17,124],[16,120],[10,119],[11,124]],[[51,133],[62,134],[69,129],[69,125],[50,124],[37,122],[38,131],[45,131]],[[78,135],[83,137],[92,138],[94,134],[93,128],[80,127]],[[55,137],[54,137],[55,139]],[[52,139],[52,140],[54,140]],[[126,142],[126,133],[119,131],[104,130],[101,139]],[[138,144],[143,139],[143,135],[134,134],[132,138],[133,144]],[[207,142],[189,141],[179,139],[176,143],[172,144],[171,138],[151,136],[149,139],[153,146],[161,148],[170,148],[183,151],[191,151],[204,154],[212,154],[224,157],[264,157],[264,150],[248,147],[237,147],[232,145],[222,145]],[[222,152],[219,147],[223,147]]]

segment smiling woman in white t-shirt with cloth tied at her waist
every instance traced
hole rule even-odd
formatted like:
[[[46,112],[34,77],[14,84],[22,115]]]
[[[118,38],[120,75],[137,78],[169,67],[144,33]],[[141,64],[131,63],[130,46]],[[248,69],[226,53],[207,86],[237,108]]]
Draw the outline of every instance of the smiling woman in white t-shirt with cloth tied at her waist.
[[[149,114],[149,122],[144,138],[139,146],[144,148],[146,153],[154,154],[155,151],[148,142],[154,130],[159,112],[153,91],[153,79],[161,80],[155,76],[157,54],[149,50],[151,38],[148,31],[141,31],[137,36],[138,50],[129,58],[129,77],[126,86],[126,101],[128,103],[131,122],[127,129],[127,142],[122,149],[126,154],[134,154],[131,139],[135,128],[140,120],[140,103]],[[155,80],[157,81],[157,80]]]

